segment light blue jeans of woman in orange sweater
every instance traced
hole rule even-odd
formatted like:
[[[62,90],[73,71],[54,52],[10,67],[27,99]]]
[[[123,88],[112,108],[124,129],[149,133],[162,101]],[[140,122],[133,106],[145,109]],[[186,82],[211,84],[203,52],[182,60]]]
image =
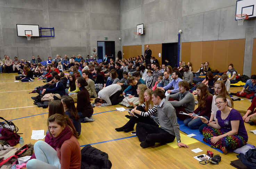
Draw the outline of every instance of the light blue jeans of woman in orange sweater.
[[[27,169],[60,169],[57,151],[46,142],[39,140],[34,145],[36,159],[27,162]]]

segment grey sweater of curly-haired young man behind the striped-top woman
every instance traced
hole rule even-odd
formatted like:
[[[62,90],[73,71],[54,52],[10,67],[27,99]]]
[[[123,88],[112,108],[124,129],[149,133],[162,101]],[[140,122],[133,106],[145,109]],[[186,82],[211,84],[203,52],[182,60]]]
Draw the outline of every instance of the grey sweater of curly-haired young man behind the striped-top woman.
[[[166,96],[166,100],[169,98],[179,98],[179,101],[169,101],[174,107],[183,106],[187,113],[193,113],[195,110],[195,98],[192,93],[185,91],[184,94],[178,92],[173,95]]]

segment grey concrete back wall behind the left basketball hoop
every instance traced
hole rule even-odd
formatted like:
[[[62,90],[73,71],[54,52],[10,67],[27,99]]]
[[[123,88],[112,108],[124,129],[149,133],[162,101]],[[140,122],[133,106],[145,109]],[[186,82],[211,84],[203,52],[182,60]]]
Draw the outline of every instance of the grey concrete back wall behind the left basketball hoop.
[[[97,41],[116,41],[121,50],[119,0],[0,0],[0,57],[43,60],[56,54],[91,55]],[[18,37],[16,24],[54,27],[55,37]]]

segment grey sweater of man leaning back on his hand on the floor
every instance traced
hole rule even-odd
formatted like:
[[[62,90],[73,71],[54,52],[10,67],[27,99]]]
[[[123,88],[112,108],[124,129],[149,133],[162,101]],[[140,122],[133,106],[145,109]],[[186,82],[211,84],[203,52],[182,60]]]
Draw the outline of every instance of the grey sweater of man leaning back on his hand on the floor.
[[[162,100],[161,104],[157,105],[158,119],[161,128],[168,133],[175,135],[176,140],[180,141],[180,125],[177,123],[174,107],[165,99]]]

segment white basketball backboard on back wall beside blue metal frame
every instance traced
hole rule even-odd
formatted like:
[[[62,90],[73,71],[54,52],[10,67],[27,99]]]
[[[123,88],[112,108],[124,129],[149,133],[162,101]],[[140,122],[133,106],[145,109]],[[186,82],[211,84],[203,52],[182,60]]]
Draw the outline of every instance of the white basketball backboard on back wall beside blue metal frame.
[[[39,25],[16,24],[18,36],[39,36]]]

